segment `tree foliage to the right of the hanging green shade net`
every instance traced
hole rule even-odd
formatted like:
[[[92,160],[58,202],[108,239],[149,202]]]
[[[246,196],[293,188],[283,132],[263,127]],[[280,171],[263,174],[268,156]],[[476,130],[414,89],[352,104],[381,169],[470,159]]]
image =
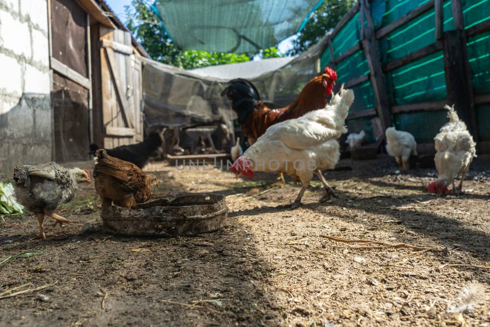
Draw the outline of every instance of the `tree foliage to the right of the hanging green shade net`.
[[[337,25],[355,2],[356,0],[325,0],[313,12],[305,27],[298,33],[297,39],[292,41],[293,48],[287,54],[298,55],[308,50]]]

